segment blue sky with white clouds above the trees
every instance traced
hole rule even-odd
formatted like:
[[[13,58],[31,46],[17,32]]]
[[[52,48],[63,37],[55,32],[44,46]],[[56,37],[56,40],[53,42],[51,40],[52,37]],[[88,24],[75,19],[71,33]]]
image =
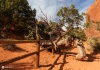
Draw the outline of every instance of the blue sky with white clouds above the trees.
[[[56,13],[61,7],[74,4],[79,13],[85,13],[94,0],[28,0],[28,2],[32,9],[35,8],[37,10],[37,19],[43,16],[41,13],[42,10],[52,21],[57,21]]]

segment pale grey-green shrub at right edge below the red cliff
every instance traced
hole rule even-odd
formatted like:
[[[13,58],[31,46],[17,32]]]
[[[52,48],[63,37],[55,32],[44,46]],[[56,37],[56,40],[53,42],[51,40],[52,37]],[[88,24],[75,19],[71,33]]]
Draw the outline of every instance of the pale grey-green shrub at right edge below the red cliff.
[[[92,37],[88,40],[90,45],[90,50],[95,52],[100,52],[100,37]]]

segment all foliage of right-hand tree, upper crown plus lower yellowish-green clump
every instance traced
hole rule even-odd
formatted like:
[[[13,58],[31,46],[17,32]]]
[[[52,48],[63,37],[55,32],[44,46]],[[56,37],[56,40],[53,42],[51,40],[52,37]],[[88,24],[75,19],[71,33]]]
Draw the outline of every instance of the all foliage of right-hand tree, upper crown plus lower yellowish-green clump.
[[[79,14],[78,9],[72,4],[70,7],[62,7],[57,16],[62,21],[62,25],[66,27],[66,34],[71,37],[77,37],[81,40],[86,38],[84,31],[80,28],[81,22],[83,21],[83,13]]]

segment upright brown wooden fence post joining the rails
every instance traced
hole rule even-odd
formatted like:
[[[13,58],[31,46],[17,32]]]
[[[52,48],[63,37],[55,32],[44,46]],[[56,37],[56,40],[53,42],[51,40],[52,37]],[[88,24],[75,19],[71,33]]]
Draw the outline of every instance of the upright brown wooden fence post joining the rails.
[[[37,47],[36,47],[36,65],[35,67],[38,68],[39,67],[39,60],[40,60],[40,37],[39,35],[36,35],[37,37]]]

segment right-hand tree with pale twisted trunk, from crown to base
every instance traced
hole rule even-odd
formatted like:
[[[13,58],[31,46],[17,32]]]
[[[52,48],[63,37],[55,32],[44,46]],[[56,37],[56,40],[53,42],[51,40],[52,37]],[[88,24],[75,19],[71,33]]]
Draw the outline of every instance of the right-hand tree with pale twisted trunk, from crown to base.
[[[85,53],[85,49],[83,48],[83,44],[82,42],[80,42],[80,40],[82,40],[81,36],[84,36],[83,30],[81,30],[81,28],[79,26],[81,26],[81,22],[83,21],[83,15],[79,14],[78,9],[75,8],[74,5],[71,5],[70,7],[62,7],[58,13],[57,16],[60,18],[61,22],[60,26],[65,26],[67,31],[66,34],[67,36],[69,36],[70,38],[68,38],[68,42],[69,45],[71,46],[71,40],[75,38],[78,38],[77,43],[77,47],[79,49],[79,51],[81,51],[81,54],[78,54],[76,56],[76,58],[78,60],[81,60],[85,57],[86,53]],[[83,35],[80,35],[81,33],[83,33]],[[84,37],[83,37],[84,38]],[[79,56],[82,56],[81,58]]]

